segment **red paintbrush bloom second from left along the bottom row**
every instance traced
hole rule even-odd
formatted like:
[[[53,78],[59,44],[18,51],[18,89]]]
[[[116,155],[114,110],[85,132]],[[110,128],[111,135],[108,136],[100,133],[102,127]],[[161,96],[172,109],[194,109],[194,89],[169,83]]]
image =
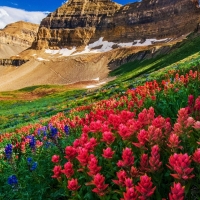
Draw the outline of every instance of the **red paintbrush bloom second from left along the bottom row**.
[[[105,177],[101,174],[96,174],[92,183],[96,186],[92,191],[97,193],[99,196],[105,195],[105,190],[108,187],[108,184],[105,184]]]

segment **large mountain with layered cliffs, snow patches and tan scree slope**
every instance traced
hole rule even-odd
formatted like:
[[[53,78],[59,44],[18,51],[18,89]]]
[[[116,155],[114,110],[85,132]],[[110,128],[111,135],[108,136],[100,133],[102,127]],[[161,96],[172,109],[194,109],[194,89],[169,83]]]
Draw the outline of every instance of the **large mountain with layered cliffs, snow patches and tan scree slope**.
[[[70,0],[42,20],[31,48],[18,56],[28,62],[0,67],[0,90],[103,84],[122,64],[177,49],[190,33],[199,32],[199,22],[198,1],[143,0],[122,6]]]

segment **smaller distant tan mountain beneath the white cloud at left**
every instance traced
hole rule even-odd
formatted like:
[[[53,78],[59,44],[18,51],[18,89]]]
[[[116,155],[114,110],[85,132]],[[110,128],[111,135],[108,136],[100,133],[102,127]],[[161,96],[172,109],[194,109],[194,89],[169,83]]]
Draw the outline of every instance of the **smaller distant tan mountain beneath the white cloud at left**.
[[[28,22],[15,22],[0,30],[0,58],[9,58],[32,45],[39,25]]]

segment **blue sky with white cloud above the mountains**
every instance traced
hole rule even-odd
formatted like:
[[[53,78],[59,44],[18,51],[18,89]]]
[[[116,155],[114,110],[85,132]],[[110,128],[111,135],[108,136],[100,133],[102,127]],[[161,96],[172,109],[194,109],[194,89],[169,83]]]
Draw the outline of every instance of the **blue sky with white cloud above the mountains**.
[[[0,0],[0,29],[16,21],[39,24],[49,13],[55,11],[66,0]],[[119,4],[136,0],[114,0]]]

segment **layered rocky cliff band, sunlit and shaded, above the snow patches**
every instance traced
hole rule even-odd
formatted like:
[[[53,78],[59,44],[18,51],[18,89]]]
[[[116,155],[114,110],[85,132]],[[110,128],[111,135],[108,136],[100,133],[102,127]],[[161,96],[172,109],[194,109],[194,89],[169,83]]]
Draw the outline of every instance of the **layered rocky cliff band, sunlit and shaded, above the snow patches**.
[[[125,6],[110,0],[70,0],[42,20],[36,49],[84,46],[100,37],[112,42],[176,38],[200,22],[195,0],[143,0]]]

